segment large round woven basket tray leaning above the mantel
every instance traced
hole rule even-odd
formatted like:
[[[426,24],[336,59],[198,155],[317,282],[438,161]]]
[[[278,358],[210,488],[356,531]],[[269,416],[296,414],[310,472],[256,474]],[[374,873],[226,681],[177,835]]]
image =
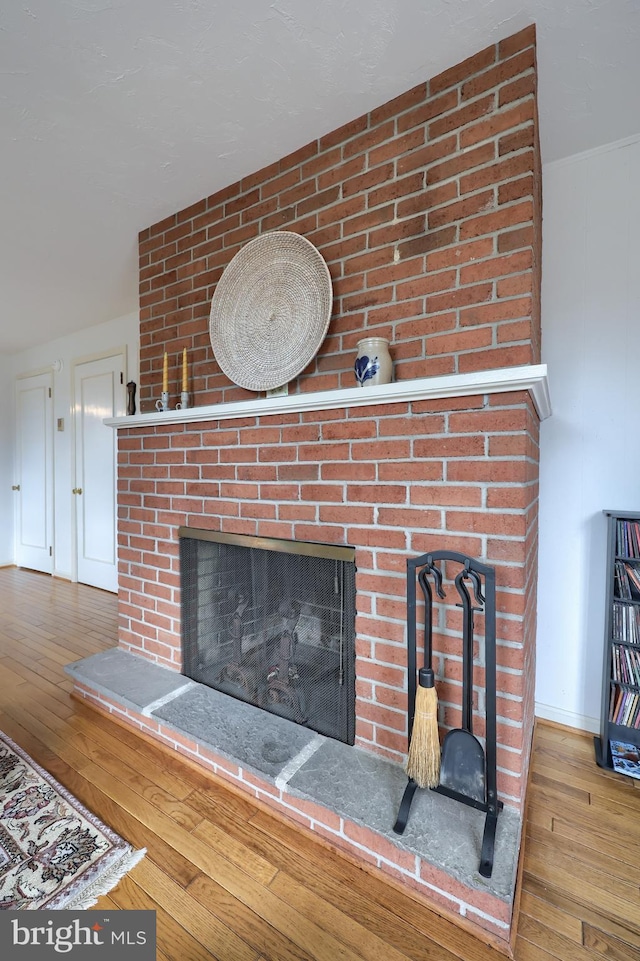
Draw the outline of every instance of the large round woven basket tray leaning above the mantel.
[[[251,240],[211,300],[209,334],[220,368],[247,390],[287,384],[317,354],[332,297],[327,265],[306,237],[275,230]]]

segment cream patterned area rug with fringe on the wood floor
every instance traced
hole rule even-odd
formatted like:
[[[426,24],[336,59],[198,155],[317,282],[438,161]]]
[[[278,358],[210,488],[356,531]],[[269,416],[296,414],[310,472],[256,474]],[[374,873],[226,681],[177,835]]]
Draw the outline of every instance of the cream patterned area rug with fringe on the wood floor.
[[[0,732],[0,910],[84,910],[144,854]]]

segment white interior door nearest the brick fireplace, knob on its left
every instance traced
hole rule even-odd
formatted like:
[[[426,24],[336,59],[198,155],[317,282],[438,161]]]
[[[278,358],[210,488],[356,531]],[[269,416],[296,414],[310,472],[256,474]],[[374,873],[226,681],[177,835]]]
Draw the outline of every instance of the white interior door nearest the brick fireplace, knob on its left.
[[[74,368],[77,577],[118,590],[116,432],[105,417],[125,412],[121,353]]]

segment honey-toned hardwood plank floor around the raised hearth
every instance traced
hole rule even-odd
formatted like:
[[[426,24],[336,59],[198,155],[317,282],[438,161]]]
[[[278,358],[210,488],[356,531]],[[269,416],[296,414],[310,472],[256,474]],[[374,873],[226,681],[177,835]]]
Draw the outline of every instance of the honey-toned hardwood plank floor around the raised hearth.
[[[102,908],[157,912],[159,961],[495,961],[411,897],[70,697],[113,595],[0,569],[0,728],[147,857]],[[640,782],[539,722],[516,961],[640,961]]]

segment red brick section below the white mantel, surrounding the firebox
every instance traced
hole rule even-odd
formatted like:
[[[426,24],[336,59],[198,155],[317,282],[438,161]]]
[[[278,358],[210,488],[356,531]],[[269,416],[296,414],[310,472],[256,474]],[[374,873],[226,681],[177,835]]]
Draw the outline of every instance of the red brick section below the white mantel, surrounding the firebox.
[[[481,558],[497,570],[499,789],[519,803],[537,429],[528,395],[514,393],[120,431],[121,646],[180,669],[181,525],[354,545],[357,742],[402,761],[407,558]],[[460,723],[460,631],[452,603],[434,639],[447,726]],[[475,680],[481,692],[481,666]]]

